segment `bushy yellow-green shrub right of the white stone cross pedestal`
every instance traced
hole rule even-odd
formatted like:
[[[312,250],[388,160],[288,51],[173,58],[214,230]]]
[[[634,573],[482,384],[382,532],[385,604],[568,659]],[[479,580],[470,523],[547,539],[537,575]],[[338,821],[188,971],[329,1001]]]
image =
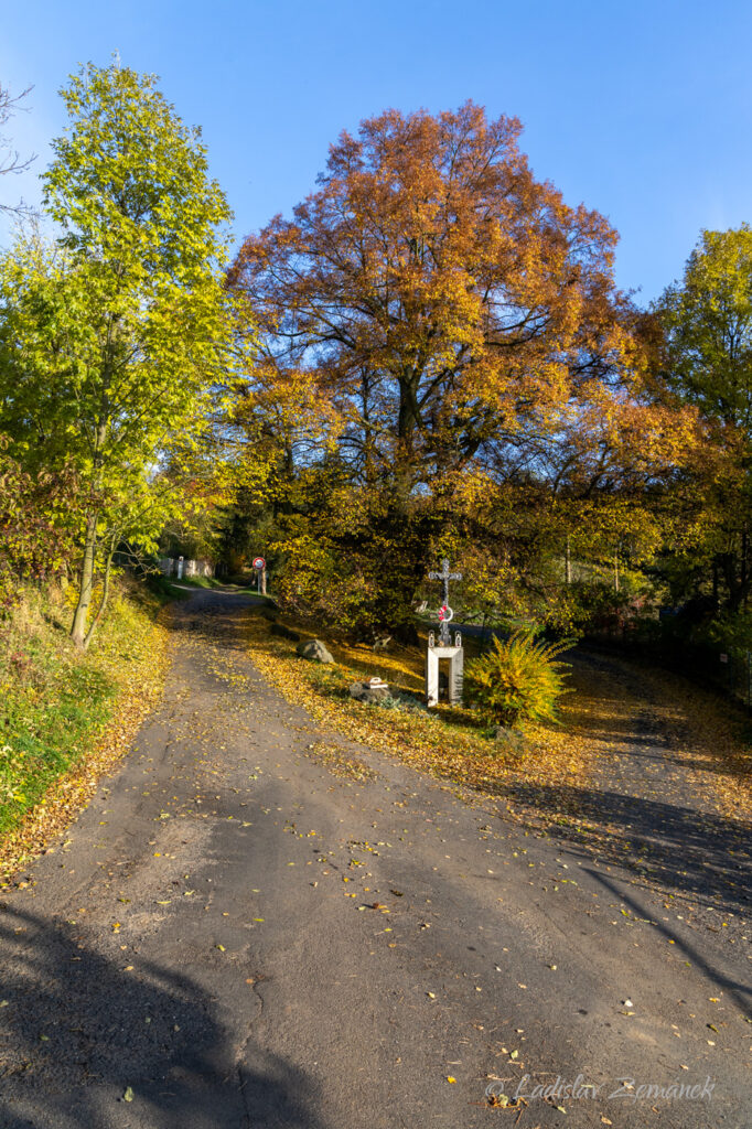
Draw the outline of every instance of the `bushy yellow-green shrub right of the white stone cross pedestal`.
[[[546,644],[532,632],[518,631],[467,664],[465,695],[491,725],[522,726],[525,721],[556,721],[566,692],[566,663],[557,655],[571,640]]]

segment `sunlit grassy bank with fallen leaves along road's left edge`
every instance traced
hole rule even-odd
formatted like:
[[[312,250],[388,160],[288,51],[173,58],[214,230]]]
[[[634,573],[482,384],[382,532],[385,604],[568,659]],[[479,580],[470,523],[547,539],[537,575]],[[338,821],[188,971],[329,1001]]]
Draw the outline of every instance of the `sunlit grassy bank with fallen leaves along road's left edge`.
[[[86,654],[70,606],[28,587],[0,624],[0,876],[44,850],[128,747],[164,681],[165,597],[120,584]]]

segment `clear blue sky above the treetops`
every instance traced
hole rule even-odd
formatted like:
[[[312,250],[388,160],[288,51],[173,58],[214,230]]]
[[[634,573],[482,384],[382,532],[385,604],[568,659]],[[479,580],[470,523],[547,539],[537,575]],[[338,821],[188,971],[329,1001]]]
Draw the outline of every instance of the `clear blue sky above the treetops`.
[[[10,123],[37,198],[56,91],[78,62],[160,76],[201,125],[242,237],[313,187],[342,129],[387,106],[467,98],[518,116],[541,180],[604,212],[617,279],[647,303],[682,272],[701,228],[752,220],[749,0],[24,0],[2,3],[0,81],[34,90]],[[0,239],[7,242],[7,228]]]

